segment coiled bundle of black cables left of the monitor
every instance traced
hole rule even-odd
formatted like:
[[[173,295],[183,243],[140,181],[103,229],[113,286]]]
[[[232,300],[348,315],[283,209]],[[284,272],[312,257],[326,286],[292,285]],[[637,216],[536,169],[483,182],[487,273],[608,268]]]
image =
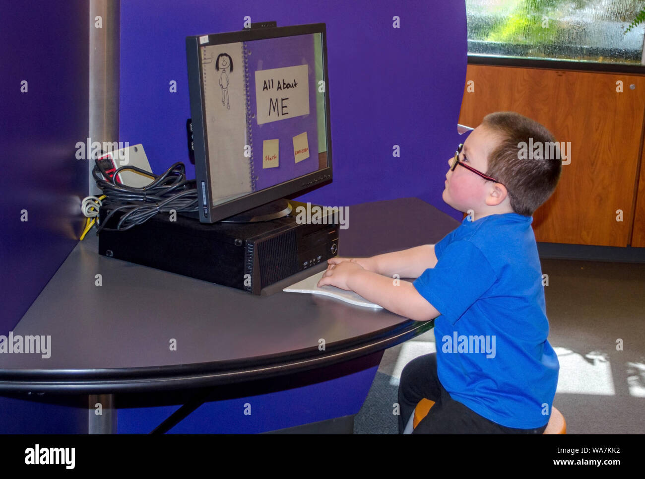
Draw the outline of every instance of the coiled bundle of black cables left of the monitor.
[[[92,176],[97,187],[106,196],[102,208],[111,210],[104,218],[103,224],[98,225],[96,232],[101,230],[124,231],[155,216],[157,213],[196,212],[199,207],[195,181],[186,180],[186,167],[178,162],[168,168],[164,174],[156,176],[137,167],[120,167],[112,173],[112,178],[103,166],[95,159]],[[117,183],[117,175],[124,170],[132,170],[154,179],[143,188],[128,187]],[[109,180],[108,180],[109,179]],[[105,228],[108,220],[117,212],[123,212],[116,228]]]

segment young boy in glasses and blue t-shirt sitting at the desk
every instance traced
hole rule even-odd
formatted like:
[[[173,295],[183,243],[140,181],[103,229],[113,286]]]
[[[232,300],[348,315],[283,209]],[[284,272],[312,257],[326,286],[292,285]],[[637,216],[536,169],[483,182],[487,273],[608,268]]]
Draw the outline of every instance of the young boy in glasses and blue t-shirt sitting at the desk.
[[[542,145],[533,158],[523,154],[530,139]],[[402,371],[399,432],[422,398],[435,405],[415,434],[544,432],[559,363],[531,222],[560,177],[554,142],[517,113],[484,117],[448,160],[442,198],[468,214],[461,226],[436,245],[328,260],[319,286],[354,290],[415,321],[437,318],[437,352]],[[417,279],[395,284],[394,274]]]

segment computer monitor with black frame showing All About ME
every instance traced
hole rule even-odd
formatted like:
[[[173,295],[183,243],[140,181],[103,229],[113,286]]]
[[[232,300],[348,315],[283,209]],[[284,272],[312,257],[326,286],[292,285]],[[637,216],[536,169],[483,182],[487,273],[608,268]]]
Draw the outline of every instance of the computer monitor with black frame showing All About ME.
[[[200,221],[332,181],[324,23],[186,37],[186,59]]]

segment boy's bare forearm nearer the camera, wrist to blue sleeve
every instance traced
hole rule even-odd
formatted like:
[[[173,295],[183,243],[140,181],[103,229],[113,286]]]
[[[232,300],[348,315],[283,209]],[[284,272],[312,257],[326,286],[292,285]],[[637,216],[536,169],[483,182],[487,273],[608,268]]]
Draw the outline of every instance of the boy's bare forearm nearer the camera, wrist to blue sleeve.
[[[352,274],[347,285],[366,300],[413,321],[429,321],[439,316],[439,311],[408,281],[395,284],[387,276],[359,270]]]

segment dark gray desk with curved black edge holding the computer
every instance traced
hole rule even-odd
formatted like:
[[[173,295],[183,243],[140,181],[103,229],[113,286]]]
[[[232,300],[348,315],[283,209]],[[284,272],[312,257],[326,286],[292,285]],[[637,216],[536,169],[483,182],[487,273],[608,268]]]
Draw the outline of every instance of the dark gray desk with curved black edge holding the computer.
[[[416,198],[362,203],[350,207],[339,256],[435,243],[458,225]],[[0,355],[0,392],[114,394],[266,380],[382,354],[432,327],[310,294],[253,296],[105,258],[97,246],[93,233],[79,242],[14,328],[50,335],[51,357]]]

